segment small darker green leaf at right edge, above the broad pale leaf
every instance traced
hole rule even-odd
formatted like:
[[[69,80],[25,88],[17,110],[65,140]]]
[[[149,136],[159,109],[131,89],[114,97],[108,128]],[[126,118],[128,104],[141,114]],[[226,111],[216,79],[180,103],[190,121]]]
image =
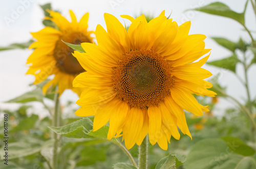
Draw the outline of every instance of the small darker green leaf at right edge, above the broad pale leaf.
[[[243,156],[252,156],[255,154],[255,150],[251,147],[247,146],[240,138],[236,137],[221,137],[226,143],[231,151],[237,154],[241,154]]]

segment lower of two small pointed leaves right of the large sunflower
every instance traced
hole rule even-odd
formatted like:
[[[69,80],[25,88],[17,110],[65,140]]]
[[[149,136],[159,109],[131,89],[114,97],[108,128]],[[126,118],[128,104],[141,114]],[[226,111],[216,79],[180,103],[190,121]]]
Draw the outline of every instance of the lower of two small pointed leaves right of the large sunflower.
[[[225,68],[232,72],[236,72],[236,65],[239,62],[237,55],[233,54],[231,57],[221,59],[218,61],[207,62],[208,65],[216,66],[219,68]]]

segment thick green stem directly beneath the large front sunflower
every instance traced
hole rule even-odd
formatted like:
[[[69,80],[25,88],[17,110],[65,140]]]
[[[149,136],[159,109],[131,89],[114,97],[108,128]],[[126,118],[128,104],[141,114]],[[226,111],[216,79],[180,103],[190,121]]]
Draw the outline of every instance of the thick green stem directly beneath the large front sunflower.
[[[139,169],[147,169],[147,142],[148,135],[139,146]]]

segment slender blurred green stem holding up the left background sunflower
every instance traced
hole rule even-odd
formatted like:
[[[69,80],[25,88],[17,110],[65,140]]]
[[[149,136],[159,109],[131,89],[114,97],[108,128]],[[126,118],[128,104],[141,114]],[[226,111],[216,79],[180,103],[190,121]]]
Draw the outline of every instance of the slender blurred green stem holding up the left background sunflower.
[[[58,91],[58,88],[56,87],[56,92]],[[53,126],[58,127],[58,109],[59,109],[59,93],[55,93],[54,96],[54,101],[55,101],[55,107],[54,107],[54,115],[53,115]],[[57,151],[58,151],[58,138],[57,138],[57,133],[53,132],[53,169],[57,169]]]

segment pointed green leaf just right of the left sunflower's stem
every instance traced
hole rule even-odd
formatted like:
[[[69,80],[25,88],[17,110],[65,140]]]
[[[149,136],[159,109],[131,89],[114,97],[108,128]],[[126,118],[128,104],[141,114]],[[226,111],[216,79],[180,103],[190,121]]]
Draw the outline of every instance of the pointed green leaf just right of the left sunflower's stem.
[[[84,131],[90,132],[93,129],[93,122],[89,118],[83,118],[62,127],[49,127],[57,134],[72,138],[93,138]]]

